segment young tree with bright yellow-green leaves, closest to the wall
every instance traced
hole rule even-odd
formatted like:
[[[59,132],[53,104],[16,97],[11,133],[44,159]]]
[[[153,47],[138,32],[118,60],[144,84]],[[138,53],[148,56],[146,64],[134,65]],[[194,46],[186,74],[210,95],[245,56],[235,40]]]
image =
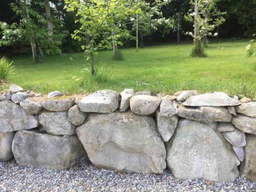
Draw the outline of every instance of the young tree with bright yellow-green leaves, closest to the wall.
[[[72,37],[84,42],[81,48],[86,54],[86,60],[91,62],[92,75],[95,75],[95,52],[112,49],[113,45],[122,45],[120,37],[130,34],[121,21],[127,20],[127,15],[136,9],[131,9],[125,0],[65,0],[65,3],[67,11],[76,12],[76,23],[80,24],[80,28],[74,31]]]

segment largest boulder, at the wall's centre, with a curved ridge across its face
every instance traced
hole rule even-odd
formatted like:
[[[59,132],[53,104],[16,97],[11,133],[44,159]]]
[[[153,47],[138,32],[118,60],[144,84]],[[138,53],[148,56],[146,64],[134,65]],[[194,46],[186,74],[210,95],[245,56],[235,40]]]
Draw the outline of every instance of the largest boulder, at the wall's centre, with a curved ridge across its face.
[[[152,117],[91,114],[76,130],[91,162],[119,172],[163,173],[165,146]]]

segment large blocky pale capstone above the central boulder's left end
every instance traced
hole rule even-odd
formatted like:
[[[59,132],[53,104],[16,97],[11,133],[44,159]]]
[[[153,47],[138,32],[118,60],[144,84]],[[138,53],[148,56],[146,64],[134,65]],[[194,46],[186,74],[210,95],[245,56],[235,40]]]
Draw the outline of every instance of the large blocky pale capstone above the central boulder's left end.
[[[119,94],[112,90],[96,91],[78,103],[82,112],[111,113],[118,108]]]

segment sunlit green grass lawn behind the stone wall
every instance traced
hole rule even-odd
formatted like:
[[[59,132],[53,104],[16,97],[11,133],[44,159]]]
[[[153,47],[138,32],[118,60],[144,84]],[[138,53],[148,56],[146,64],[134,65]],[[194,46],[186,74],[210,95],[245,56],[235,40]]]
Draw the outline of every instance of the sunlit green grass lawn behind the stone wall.
[[[84,70],[88,63],[83,53],[44,57],[38,64],[32,64],[31,57],[15,57],[10,58],[16,66],[15,74],[10,75],[8,81],[40,93],[59,90],[72,94],[102,89],[120,92],[133,88],[165,94],[198,90],[255,97],[256,59],[246,58],[247,45],[248,40],[210,43],[206,58],[189,56],[192,42],[145,47],[139,52],[125,48],[122,61],[113,60],[111,50],[100,51],[95,56],[96,67],[108,66],[113,72],[105,83],[88,81],[90,73]]]

